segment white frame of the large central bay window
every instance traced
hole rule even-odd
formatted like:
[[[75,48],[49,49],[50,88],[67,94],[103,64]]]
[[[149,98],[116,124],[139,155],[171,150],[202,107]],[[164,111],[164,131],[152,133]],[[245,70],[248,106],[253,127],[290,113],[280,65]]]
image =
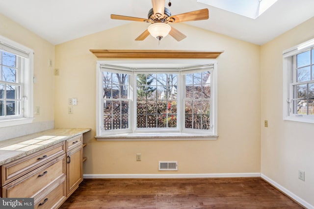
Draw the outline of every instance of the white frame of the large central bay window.
[[[102,66],[103,65],[110,65],[110,66],[121,66],[121,67],[128,67],[128,68],[134,68],[135,70],[132,70],[133,73],[133,78],[129,80],[130,82],[130,92],[129,95],[131,96],[131,107],[130,107],[130,115],[133,116],[134,113],[136,113],[136,107],[134,107],[135,105],[133,104],[135,99],[136,99],[136,93],[133,93],[132,90],[132,86],[134,85],[134,82],[136,83],[136,73],[143,73],[143,72],[148,72],[148,71],[139,71],[136,70],[137,68],[139,68],[139,66],[141,66],[142,64],[150,64],[151,66],[154,66],[154,64],[165,64],[166,66],[169,65],[171,66],[171,68],[175,68],[175,66],[180,66],[180,65],[193,65],[193,66],[202,66],[202,65],[212,65],[212,69],[209,70],[210,71],[210,79],[211,79],[211,88],[212,88],[212,94],[211,94],[211,124],[212,127],[209,130],[194,130],[194,129],[185,129],[184,126],[184,122],[181,122],[181,127],[177,127],[175,129],[149,129],[149,128],[145,128],[145,129],[137,129],[135,126],[136,124],[136,118],[131,117],[131,121],[130,121],[130,125],[129,125],[129,129],[127,130],[115,130],[115,131],[103,131],[102,130],[102,120],[103,120],[103,101],[102,101],[102,97],[103,97],[103,90],[102,90]],[[137,68],[136,68],[137,66]],[[149,69],[148,69],[149,70]],[[164,70],[162,69],[161,71],[164,72]],[[200,71],[200,70],[199,70]],[[156,70],[154,71],[156,72]],[[177,71],[179,74],[178,76],[183,76],[183,74],[189,73],[189,69],[188,67],[185,68],[185,70],[178,70]],[[173,73],[175,73],[175,71],[173,71]],[[180,83],[180,80],[178,81],[178,85],[180,86],[179,88],[184,89],[183,88],[183,82]],[[181,91],[181,94],[183,94],[183,91]],[[183,95],[180,95],[179,98],[181,98],[181,100],[178,100],[178,105],[182,105],[183,102]],[[179,108],[178,110],[181,109],[182,112],[178,112],[178,120],[184,120],[184,110],[183,108]],[[164,137],[178,137],[178,136],[190,136],[192,138],[189,139],[193,139],[194,137],[198,137],[198,136],[202,136],[202,137],[209,137],[209,138],[214,138],[216,139],[218,137],[217,135],[217,62],[216,60],[211,60],[211,59],[198,59],[198,60],[98,60],[97,61],[97,66],[96,66],[96,132],[97,132],[97,139],[105,139],[105,138],[118,138],[117,140],[121,140],[122,138],[127,139],[127,138],[133,138],[133,139],[139,139],[141,138],[141,134],[145,133],[145,136],[148,137],[150,136],[150,134],[152,134],[152,136],[154,135],[154,137],[157,138],[162,138],[161,136]],[[152,133],[153,132],[153,133]],[[158,132],[158,133],[157,133]],[[186,133],[186,136],[184,135],[184,133]],[[143,135],[144,136],[144,135]],[[101,139],[101,140],[102,140]],[[202,140],[204,140],[204,138],[202,138]]]

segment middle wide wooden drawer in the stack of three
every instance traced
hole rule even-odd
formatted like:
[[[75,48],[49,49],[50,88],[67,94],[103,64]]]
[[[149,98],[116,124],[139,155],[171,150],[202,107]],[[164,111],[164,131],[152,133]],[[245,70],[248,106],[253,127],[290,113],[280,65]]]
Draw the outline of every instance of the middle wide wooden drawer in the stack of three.
[[[65,174],[66,155],[64,154],[3,186],[2,195],[3,197],[34,197]]]

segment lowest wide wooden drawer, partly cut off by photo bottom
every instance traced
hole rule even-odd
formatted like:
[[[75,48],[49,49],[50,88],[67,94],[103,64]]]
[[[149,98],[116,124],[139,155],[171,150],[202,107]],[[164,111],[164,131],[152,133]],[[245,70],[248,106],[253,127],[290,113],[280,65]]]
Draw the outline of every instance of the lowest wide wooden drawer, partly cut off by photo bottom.
[[[66,199],[66,182],[62,177],[40,197],[34,200],[34,209],[54,209],[58,208]]]

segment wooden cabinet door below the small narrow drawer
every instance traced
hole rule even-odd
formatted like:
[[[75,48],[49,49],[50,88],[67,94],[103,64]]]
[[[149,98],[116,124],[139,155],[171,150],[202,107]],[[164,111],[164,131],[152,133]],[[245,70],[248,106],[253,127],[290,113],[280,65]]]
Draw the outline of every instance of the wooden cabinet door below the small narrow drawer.
[[[71,195],[83,181],[83,147],[67,152],[67,196]]]

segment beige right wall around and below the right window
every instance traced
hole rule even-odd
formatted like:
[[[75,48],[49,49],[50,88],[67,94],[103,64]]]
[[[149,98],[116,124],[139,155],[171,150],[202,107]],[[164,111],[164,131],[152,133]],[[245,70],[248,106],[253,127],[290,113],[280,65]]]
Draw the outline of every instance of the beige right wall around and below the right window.
[[[314,205],[314,124],[283,120],[283,50],[314,38],[314,18],[261,47],[261,172]],[[305,171],[305,182],[298,179]]]

